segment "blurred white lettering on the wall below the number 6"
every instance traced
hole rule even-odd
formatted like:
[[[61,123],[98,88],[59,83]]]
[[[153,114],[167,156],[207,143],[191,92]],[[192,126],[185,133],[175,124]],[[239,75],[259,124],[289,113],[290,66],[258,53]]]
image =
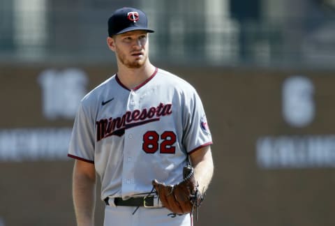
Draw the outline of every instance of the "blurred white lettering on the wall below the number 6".
[[[256,158],[261,168],[335,167],[335,135],[260,137]]]

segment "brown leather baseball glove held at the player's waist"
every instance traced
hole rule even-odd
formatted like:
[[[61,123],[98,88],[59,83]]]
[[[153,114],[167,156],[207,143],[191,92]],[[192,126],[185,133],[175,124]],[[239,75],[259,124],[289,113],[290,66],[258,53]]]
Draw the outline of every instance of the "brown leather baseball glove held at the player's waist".
[[[165,185],[156,179],[152,181],[152,185],[163,206],[170,209],[172,213],[192,213],[196,209],[198,217],[198,207],[203,201],[204,195],[198,189],[198,183],[194,178],[194,169],[191,165],[184,166],[183,175],[184,180],[175,185]]]

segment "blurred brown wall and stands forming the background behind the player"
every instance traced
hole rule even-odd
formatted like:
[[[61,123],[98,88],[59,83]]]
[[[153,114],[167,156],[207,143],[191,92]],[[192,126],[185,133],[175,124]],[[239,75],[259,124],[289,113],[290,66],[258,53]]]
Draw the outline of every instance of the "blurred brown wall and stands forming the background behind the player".
[[[107,19],[123,6],[207,112],[195,225],[335,225],[334,0],[0,0],[0,226],[75,225],[68,142],[80,99],[116,73]]]

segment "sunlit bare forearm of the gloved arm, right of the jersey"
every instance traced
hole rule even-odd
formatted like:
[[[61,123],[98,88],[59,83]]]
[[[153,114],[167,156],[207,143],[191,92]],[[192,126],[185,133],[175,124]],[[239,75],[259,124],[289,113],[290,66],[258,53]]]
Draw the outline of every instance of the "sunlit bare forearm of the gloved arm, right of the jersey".
[[[199,190],[201,193],[204,193],[207,190],[214,174],[214,164],[211,157],[211,151],[207,151],[202,160],[198,163],[193,163],[193,167],[194,177],[199,184]]]

